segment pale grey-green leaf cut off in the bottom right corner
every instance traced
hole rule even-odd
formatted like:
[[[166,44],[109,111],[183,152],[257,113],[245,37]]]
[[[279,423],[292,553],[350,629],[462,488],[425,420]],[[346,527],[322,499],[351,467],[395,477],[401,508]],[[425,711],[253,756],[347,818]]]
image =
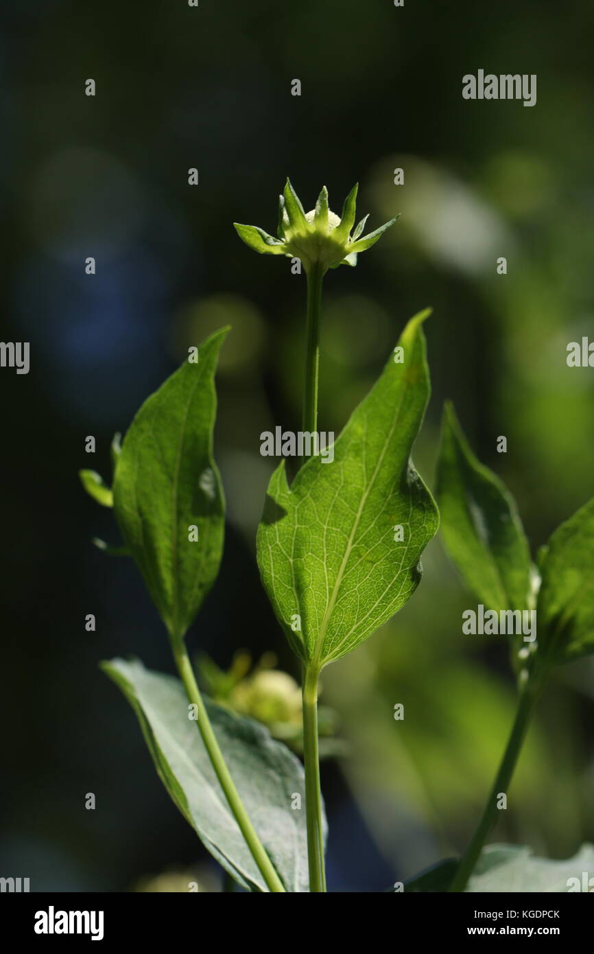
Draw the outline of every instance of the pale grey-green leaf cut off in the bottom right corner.
[[[466,891],[542,892],[583,891],[583,873],[594,873],[594,846],[584,844],[573,858],[548,861],[535,858],[530,848],[493,844],[485,848]],[[572,881],[574,879],[575,881]],[[586,888],[587,890],[587,888]]]

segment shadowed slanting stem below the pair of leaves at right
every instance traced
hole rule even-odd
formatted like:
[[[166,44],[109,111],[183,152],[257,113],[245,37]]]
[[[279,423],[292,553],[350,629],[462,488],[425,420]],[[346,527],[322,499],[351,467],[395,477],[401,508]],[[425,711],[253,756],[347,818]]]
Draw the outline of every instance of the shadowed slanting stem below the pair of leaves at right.
[[[474,871],[477,861],[479,861],[484,842],[495,824],[498,813],[498,796],[501,792],[507,792],[530,723],[534,704],[539,695],[539,691],[531,688],[529,683],[526,684],[522,690],[522,695],[520,695],[518,701],[516,717],[507,740],[499,771],[495,777],[489,797],[486,800],[481,820],[468,848],[461,858],[456,875],[449,886],[449,891],[463,891],[466,887],[466,882]]]

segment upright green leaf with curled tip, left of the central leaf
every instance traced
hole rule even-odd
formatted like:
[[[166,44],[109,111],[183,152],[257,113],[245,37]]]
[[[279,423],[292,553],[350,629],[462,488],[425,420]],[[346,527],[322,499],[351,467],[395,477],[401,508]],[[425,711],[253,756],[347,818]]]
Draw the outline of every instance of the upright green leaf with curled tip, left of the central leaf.
[[[214,378],[227,332],[202,342],[198,362],[184,362],[142,405],[115,468],[117,523],[172,634],[183,635],[193,622],[221,559],[224,502],[213,458]]]

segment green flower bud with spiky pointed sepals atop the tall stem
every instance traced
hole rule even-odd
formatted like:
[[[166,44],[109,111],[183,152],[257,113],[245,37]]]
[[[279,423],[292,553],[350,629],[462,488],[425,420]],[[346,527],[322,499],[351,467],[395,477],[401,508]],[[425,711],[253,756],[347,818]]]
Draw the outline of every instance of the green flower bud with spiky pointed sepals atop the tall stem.
[[[300,259],[306,272],[317,265],[323,274],[338,265],[357,264],[358,252],[364,252],[381,238],[386,229],[394,225],[391,218],[375,232],[359,238],[368,216],[362,218],[357,228],[355,212],[358,184],[353,186],[344,200],[338,217],[328,207],[328,190],[324,186],[317,197],[316,208],[304,212],[303,206],[289,179],[282,196],[278,197],[277,239],[256,225],[240,225],[234,222],[240,239],[262,255],[285,255]]]

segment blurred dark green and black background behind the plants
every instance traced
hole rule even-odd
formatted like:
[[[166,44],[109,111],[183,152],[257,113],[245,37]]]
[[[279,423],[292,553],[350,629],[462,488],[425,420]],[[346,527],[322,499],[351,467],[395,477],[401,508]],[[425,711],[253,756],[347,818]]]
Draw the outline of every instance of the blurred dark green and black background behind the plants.
[[[304,277],[250,252],[232,222],[274,231],[287,175],[306,208],[325,183],[338,212],[358,180],[372,228],[401,218],[326,280],[320,427],[339,430],[404,322],[432,305],[416,464],[433,486],[453,399],[535,551],[594,491],[592,371],[565,363],[567,342],[594,335],[594,8],[7,0],[3,23],[2,337],[31,342],[31,372],[0,373],[0,874],[31,890],[128,891],[174,872],[185,889],[192,870],[215,890],[215,864],[97,669],[114,654],[171,663],[133,566],[92,547],[117,533],[77,470],[109,478],[113,432],[188,343],[232,324],[217,378],[226,550],[190,643],[223,669],[238,648],[276,653],[297,676],[254,541],[272,467],[259,433],[298,428]],[[464,101],[461,77],[480,68],[537,73],[537,105]],[[335,891],[381,890],[463,848],[512,718],[506,647],[462,636],[476,600],[439,538],[423,565],[409,605],[324,673],[344,743],[323,768]],[[562,858],[594,839],[593,696],[590,661],[555,675],[494,840]]]

